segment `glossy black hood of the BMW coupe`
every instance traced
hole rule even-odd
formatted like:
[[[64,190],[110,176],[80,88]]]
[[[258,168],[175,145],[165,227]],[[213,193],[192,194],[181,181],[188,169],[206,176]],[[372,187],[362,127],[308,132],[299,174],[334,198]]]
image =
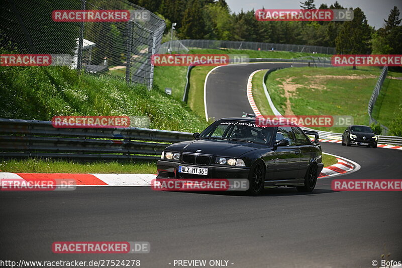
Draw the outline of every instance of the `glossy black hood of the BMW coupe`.
[[[246,152],[260,148],[267,148],[267,146],[243,141],[199,139],[172,144],[166,147],[165,151],[170,150],[173,152],[189,152],[215,156],[239,157]]]

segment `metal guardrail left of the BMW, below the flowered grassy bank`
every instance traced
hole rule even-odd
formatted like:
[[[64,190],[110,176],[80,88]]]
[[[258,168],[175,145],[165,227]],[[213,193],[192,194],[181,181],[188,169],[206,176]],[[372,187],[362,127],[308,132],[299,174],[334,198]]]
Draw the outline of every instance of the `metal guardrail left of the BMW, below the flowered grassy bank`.
[[[0,157],[156,160],[192,133],[146,128],[54,128],[52,122],[0,119]],[[167,143],[165,143],[167,142]]]

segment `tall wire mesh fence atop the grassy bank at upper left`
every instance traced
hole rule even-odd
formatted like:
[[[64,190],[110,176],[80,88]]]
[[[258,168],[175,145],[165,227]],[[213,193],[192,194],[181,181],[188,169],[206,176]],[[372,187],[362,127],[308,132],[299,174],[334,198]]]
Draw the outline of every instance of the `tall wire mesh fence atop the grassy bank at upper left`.
[[[2,46],[33,54],[69,54],[71,68],[106,73],[152,87],[152,54],[158,53],[165,22],[126,0],[6,0],[1,7]],[[146,20],[61,22],[55,10],[147,12]]]

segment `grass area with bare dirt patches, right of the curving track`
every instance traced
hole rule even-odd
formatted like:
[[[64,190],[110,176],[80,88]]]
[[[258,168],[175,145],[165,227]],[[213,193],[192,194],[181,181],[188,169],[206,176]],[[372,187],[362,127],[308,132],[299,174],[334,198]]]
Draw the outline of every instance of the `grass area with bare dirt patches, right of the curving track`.
[[[367,104],[380,69],[375,67],[286,68],[269,74],[266,85],[283,115],[351,115],[368,125]],[[343,132],[344,127],[316,128]]]

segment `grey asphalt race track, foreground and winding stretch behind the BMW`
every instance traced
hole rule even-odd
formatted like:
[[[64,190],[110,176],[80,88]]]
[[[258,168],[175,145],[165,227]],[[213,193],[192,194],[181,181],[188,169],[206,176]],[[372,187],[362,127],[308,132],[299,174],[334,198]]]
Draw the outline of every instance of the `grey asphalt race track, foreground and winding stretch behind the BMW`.
[[[230,67],[217,70],[224,68]],[[401,178],[400,150],[321,145],[361,165],[336,178]],[[319,180],[311,194],[278,188],[258,197],[149,187],[0,192],[0,252],[16,261],[135,258],[142,267],[174,267],[174,259],[226,259],[230,267],[372,267],[383,253],[402,261],[402,194],[333,192],[331,181]],[[151,252],[54,254],[55,241],[148,241]]]

